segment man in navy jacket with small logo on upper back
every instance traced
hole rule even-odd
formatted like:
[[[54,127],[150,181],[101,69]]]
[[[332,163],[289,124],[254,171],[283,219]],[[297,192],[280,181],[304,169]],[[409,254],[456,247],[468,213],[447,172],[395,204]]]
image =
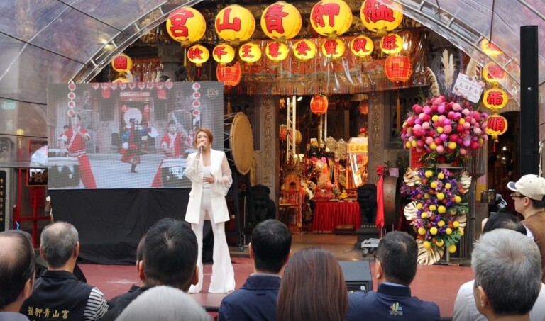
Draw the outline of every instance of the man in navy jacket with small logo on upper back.
[[[394,231],[382,237],[375,257],[378,291],[349,295],[346,320],[440,320],[436,303],[411,296],[417,256],[417,241],[407,233]]]

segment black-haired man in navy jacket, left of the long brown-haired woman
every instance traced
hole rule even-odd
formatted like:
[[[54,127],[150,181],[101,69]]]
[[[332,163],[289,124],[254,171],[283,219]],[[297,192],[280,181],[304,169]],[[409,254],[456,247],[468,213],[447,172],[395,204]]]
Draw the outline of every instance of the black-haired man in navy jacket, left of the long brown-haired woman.
[[[248,244],[253,274],[219,306],[218,320],[276,320],[280,274],[292,247],[292,233],[278,220],[254,227]]]

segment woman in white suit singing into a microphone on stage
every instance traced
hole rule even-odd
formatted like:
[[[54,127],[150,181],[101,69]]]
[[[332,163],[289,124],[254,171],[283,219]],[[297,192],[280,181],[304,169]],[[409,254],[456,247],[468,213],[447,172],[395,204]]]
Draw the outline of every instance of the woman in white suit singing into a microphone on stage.
[[[212,150],[214,140],[207,128],[201,128],[195,134],[194,146],[197,152],[187,157],[185,176],[191,182],[191,192],[187,203],[185,220],[191,223],[192,230],[199,244],[199,283],[189,288],[189,293],[202,290],[202,227],[204,220],[210,220],[214,232],[214,265],[210,281],[209,293],[229,293],[235,289],[235,274],[229,247],[225,237],[225,222],[229,220],[229,212],[225,196],[233,183],[231,169],[224,152]]]

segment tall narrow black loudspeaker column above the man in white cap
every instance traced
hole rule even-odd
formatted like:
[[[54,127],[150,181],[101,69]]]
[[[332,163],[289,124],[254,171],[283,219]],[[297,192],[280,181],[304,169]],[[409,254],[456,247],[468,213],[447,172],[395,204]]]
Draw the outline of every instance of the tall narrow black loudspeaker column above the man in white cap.
[[[520,176],[539,172],[537,26],[520,27]]]

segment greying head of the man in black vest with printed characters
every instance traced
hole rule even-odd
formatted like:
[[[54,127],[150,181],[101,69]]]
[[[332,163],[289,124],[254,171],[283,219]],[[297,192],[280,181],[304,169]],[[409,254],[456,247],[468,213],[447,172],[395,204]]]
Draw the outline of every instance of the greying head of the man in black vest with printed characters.
[[[57,222],[46,226],[40,237],[40,254],[48,269],[66,268],[72,272],[79,254],[79,236],[70,223]],[[65,265],[69,266],[65,266]]]

